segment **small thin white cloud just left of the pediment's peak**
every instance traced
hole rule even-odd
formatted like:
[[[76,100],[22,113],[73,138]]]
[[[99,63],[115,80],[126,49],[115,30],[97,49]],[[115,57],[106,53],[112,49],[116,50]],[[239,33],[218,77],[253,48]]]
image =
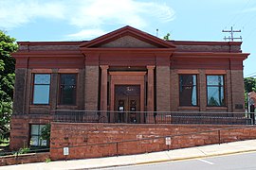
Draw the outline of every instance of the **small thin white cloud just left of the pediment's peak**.
[[[67,35],[67,38],[74,40],[84,40],[99,37],[105,33],[106,32],[102,29],[82,29],[82,31],[78,33]]]

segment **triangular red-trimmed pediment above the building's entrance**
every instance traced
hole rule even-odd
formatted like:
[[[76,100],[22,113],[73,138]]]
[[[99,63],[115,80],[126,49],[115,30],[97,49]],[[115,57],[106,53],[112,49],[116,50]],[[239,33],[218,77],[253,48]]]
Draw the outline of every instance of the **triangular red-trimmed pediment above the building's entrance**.
[[[81,48],[175,48],[172,42],[159,39],[131,26],[124,26],[92,41]]]

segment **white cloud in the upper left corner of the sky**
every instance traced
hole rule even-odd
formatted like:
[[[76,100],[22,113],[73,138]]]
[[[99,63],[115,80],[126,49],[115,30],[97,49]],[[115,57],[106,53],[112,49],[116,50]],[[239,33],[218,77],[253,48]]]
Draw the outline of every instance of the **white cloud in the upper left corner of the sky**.
[[[0,1],[0,26],[6,29],[33,22],[38,17],[64,18],[64,6],[31,0]]]

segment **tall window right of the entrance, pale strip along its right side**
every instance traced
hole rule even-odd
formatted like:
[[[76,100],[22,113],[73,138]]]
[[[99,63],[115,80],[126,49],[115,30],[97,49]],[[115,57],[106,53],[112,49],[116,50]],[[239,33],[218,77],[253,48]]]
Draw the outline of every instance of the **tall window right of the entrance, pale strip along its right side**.
[[[197,106],[196,75],[179,76],[179,105]]]

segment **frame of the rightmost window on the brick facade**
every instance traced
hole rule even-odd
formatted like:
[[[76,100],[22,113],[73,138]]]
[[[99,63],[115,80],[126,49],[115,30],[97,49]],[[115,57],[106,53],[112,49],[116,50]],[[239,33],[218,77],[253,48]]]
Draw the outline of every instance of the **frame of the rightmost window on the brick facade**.
[[[208,85],[208,78],[207,76],[222,76],[223,77],[223,85]],[[215,106],[215,105],[209,105],[208,101],[208,87],[222,87],[223,88],[223,105]],[[214,75],[206,75],[206,101],[207,101],[207,107],[227,107],[227,95],[226,95],[226,75],[223,74],[214,74]]]

